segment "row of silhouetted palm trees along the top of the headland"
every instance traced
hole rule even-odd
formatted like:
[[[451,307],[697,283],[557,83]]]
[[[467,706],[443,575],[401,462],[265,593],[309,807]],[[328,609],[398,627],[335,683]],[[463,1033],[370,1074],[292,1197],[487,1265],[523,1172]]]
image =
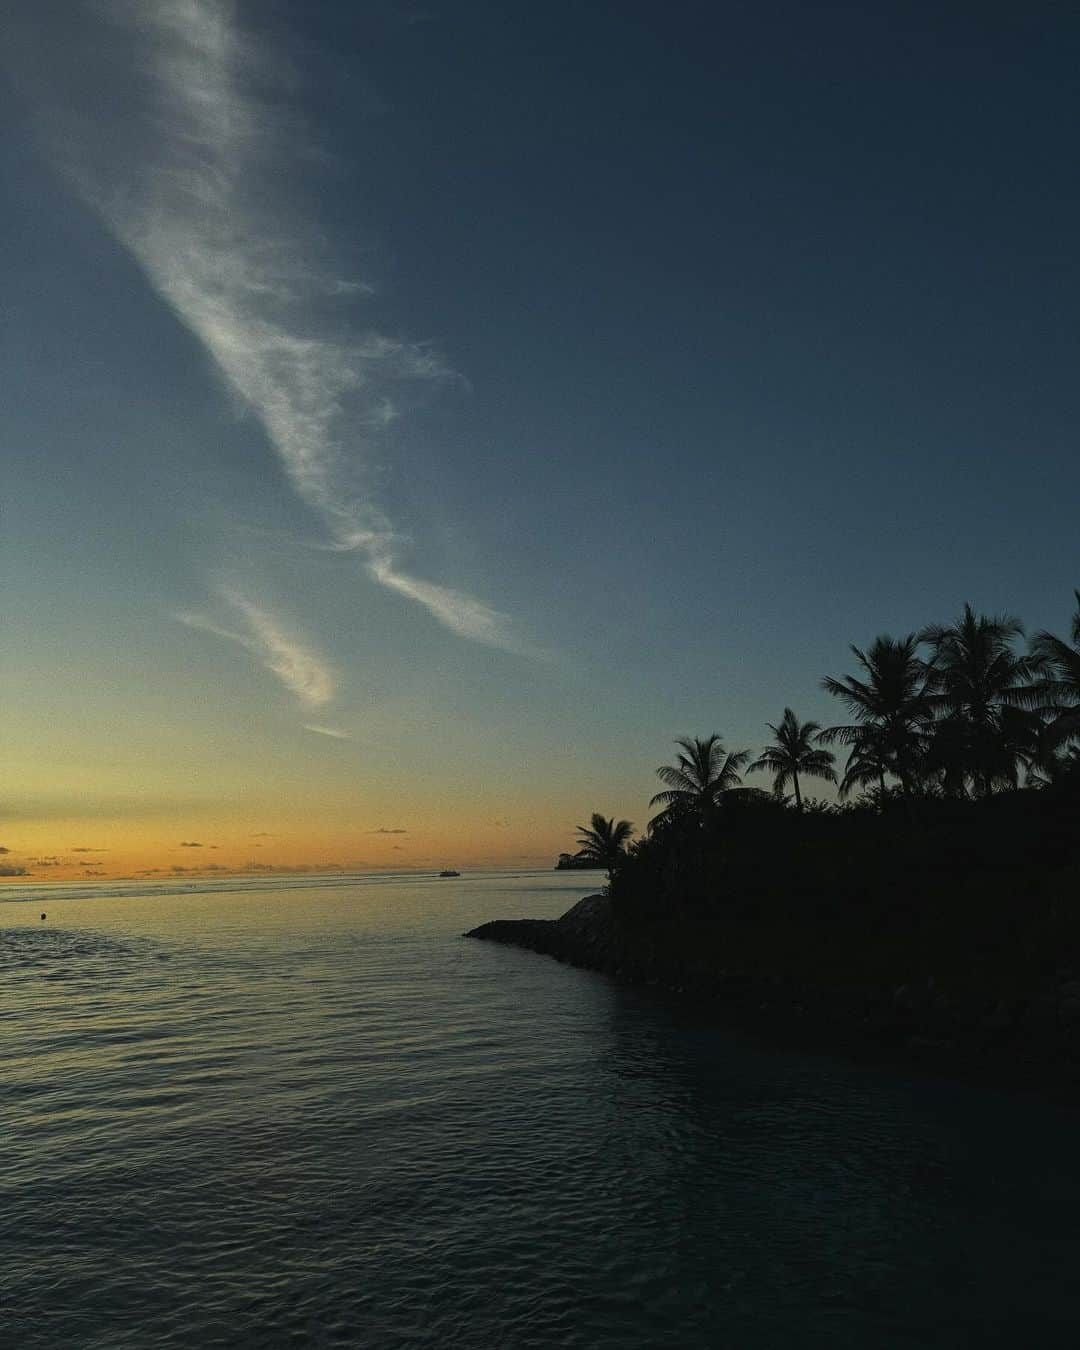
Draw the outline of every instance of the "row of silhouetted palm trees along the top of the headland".
[[[980,614],[971,605],[952,624],[903,637],[883,633],[865,649],[853,645],[857,674],[822,680],[850,721],[822,729],[786,707],[779,724],[765,724],[772,742],[752,763],[749,751],[728,751],[716,732],[678,737],[675,763],[656,771],[664,786],[651,799],[660,810],[645,836],[629,846],[628,821],[595,814],[579,828],[575,859],[609,876],[620,868],[620,878],[629,860],[630,872],[653,868],[656,884],[678,888],[695,869],[705,876],[720,865],[733,834],[764,838],[782,817],[770,819],[763,807],[783,809],[788,786],[803,811],[806,778],[836,783],[834,756],[824,748],[830,744],[849,749],[840,798],[859,795],[840,806],[813,803],[815,815],[869,817],[899,798],[909,826],[932,826],[948,821],[950,810],[1019,788],[1050,791],[1048,810],[1057,813],[1080,791],[1080,590],[1075,597],[1069,639],[1041,630],[1026,652],[1018,647],[1019,620]],[[772,803],[742,786],[744,770],[772,775]],[[736,813],[742,803],[755,810]]]

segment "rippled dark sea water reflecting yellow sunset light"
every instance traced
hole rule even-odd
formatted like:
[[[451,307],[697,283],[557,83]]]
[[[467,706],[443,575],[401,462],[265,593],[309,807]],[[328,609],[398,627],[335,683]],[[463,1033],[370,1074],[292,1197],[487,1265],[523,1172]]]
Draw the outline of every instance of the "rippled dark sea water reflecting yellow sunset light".
[[[1077,1112],[459,937],[589,882],[12,888],[0,1345],[1080,1342]]]

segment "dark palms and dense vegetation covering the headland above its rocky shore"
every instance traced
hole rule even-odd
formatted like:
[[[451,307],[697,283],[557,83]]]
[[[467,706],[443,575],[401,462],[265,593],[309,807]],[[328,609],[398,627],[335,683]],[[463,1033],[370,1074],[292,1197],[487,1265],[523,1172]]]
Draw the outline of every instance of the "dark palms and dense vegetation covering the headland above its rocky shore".
[[[1018,620],[967,605],[852,647],[855,672],[824,680],[842,721],[784,709],[756,759],[716,733],[680,737],[644,834],[594,815],[576,856],[608,869],[625,921],[682,919],[707,946],[701,922],[724,919],[725,967],[1060,964],[1080,946],[1080,591],[1076,603],[1068,639],[1023,645]],[[846,749],[838,799],[807,799],[807,779],[837,782],[830,745]],[[744,772],[770,774],[772,791]]]

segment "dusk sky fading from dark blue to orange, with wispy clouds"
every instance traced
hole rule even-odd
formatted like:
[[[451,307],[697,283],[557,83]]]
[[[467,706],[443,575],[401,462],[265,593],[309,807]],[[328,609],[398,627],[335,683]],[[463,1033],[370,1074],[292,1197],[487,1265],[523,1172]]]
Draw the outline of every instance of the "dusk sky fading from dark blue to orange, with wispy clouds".
[[[548,865],[1066,629],[1066,7],[9,11],[4,879]]]

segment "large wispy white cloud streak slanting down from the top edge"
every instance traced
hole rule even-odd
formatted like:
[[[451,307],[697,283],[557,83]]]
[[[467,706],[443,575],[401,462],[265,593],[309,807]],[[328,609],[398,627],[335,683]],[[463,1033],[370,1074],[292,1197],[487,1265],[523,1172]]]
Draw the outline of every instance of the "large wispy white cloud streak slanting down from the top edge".
[[[273,61],[228,0],[127,0],[109,14],[132,38],[146,135],[134,162],[123,151],[73,159],[82,193],[259,420],[331,547],[355,551],[375,582],[459,636],[525,652],[505,614],[401,568],[397,531],[363,482],[364,451],[397,416],[396,389],[451,373],[423,344],[343,340],[316,320],[328,297],[370,288],[333,275],[315,231],[282,230],[267,205],[298,140],[256,92],[279,74]]]

